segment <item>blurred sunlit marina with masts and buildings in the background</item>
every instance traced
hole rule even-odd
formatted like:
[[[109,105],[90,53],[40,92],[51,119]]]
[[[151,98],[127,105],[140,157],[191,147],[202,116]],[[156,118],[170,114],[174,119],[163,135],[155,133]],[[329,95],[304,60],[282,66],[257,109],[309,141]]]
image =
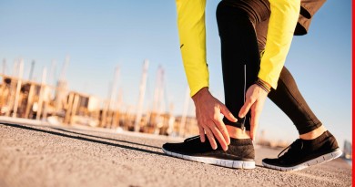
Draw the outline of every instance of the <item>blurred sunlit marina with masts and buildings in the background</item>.
[[[141,82],[137,85],[139,98],[137,106],[126,106],[122,91],[117,90],[119,68],[115,68],[113,83],[106,99],[79,93],[68,89],[66,67],[69,57],[63,64],[56,85],[50,85],[48,78],[53,76],[42,71],[41,81],[33,79],[35,61],[32,62],[29,78],[24,78],[24,60],[14,63],[12,75],[6,74],[6,61],[0,73],[0,116],[46,121],[53,125],[81,125],[110,130],[127,130],[170,137],[190,137],[198,134],[195,117],[188,116],[190,102],[189,89],[186,90],[182,115],[174,116],[174,103],[167,103],[164,68],[157,69],[156,87],[153,99],[146,99],[147,69],[149,62],[144,60]],[[144,103],[152,100],[151,109],[143,109]],[[126,107],[124,107],[126,106]],[[266,131],[261,130],[258,144],[270,148],[285,148],[290,142],[266,139]],[[344,142],[343,158],[352,161],[350,141]]]

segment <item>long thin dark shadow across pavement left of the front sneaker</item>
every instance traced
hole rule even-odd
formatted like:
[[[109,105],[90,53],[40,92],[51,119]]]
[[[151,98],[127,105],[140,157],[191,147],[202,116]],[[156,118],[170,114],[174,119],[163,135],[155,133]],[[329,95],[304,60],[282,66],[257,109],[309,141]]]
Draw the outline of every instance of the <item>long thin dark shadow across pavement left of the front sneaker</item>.
[[[118,148],[124,148],[124,149],[128,149],[128,150],[134,150],[134,151],[147,152],[147,153],[151,153],[151,154],[157,154],[157,155],[160,155],[160,156],[167,156],[166,154],[164,154],[162,152],[158,152],[158,151],[150,151],[150,150],[135,148],[135,147],[127,146],[127,145],[121,145],[121,144],[117,144],[117,143],[107,142],[107,141],[104,141],[104,140],[94,140],[94,139],[89,139],[89,138],[80,137],[80,136],[73,136],[73,135],[68,135],[68,134],[64,134],[64,133],[60,133],[60,132],[56,132],[56,131],[39,130],[39,129],[35,129],[35,128],[32,128],[32,127],[18,125],[18,124],[11,124],[11,123],[2,123],[1,125],[10,126],[10,127],[19,128],[19,129],[24,129],[24,130],[40,131],[40,132],[45,132],[45,133],[48,133],[48,134],[53,134],[53,135],[56,135],[56,136],[66,137],[66,138],[70,138],[70,139],[86,140],[86,141],[89,141],[89,142],[115,146],[115,147],[118,147]],[[127,142],[128,143],[133,143],[133,142],[129,142],[129,141],[127,141]],[[133,144],[137,144],[137,143],[133,143]]]

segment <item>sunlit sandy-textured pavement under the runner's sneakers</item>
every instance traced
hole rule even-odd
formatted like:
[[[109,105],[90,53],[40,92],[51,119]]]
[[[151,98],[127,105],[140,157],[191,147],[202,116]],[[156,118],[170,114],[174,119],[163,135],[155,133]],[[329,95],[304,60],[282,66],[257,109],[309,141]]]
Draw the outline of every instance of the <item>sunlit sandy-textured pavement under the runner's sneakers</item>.
[[[279,150],[258,147],[255,170],[168,157],[176,141],[134,133],[0,124],[0,186],[351,186],[351,167],[337,159],[303,171],[263,168]]]

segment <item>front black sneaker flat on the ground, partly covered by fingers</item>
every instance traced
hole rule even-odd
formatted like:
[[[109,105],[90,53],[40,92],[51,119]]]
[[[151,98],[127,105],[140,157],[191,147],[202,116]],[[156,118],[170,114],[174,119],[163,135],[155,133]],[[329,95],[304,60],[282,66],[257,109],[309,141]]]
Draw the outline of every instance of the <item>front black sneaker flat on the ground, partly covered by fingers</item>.
[[[199,136],[184,140],[182,143],[166,143],[163,151],[170,156],[188,161],[199,161],[228,168],[254,169],[254,146],[250,139],[230,138],[228,151],[223,151],[218,143],[213,150],[208,138],[201,142]]]

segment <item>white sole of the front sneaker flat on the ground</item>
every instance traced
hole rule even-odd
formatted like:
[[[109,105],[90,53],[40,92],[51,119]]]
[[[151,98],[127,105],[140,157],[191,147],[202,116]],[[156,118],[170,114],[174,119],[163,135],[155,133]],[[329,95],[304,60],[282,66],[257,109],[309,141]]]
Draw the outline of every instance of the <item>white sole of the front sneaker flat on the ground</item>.
[[[209,163],[213,165],[228,167],[228,168],[238,168],[238,169],[254,169],[255,168],[255,161],[231,161],[231,160],[224,160],[224,159],[216,159],[216,158],[208,158],[208,157],[194,157],[183,155],[171,151],[166,151],[162,149],[167,155],[177,157],[180,159],[185,159],[188,161],[198,161],[203,163]]]

